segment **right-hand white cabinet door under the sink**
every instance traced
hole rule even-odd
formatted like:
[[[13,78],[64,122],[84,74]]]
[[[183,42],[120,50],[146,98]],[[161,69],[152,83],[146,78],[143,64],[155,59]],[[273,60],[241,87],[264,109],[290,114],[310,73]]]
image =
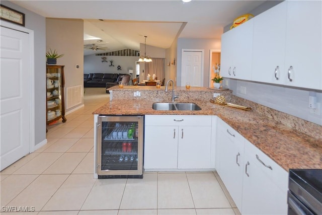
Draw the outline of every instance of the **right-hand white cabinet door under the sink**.
[[[211,126],[179,126],[178,169],[210,169]]]

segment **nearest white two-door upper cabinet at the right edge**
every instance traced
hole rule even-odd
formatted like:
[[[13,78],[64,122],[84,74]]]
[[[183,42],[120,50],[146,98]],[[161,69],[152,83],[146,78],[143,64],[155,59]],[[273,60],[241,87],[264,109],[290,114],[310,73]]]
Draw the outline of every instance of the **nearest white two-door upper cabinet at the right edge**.
[[[321,90],[321,2],[285,1],[253,20],[252,81]]]

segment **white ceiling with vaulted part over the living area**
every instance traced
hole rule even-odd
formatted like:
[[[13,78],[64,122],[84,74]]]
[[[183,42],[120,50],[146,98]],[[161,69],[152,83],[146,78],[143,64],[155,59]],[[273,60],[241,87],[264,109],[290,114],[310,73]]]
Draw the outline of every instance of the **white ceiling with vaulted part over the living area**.
[[[12,1],[47,18],[84,19],[84,34],[101,39],[84,44],[106,45],[108,51],[85,49],[84,55],[122,49],[139,50],[140,43],[169,48],[175,38],[220,39],[223,27],[265,1]],[[35,4],[37,3],[37,4]]]

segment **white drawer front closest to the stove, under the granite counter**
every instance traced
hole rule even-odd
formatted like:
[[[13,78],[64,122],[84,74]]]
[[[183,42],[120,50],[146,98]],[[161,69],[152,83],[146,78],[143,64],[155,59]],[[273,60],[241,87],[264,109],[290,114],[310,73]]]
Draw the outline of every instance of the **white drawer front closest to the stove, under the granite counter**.
[[[269,158],[265,153],[255,147],[250,141],[245,140],[245,152],[248,152],[252,163],[257,165],[280,189],[287,191],[288,172]],[[258,157],[257,157],[257,156]],[[248,159],[248,158],[246,158]],[[247,161],[245,161],[247,162]],[[249,161],[251,163],[251,161]],[[261,163],[263,162],[263,163]],[[266,166],[270,166],[272,169]]]

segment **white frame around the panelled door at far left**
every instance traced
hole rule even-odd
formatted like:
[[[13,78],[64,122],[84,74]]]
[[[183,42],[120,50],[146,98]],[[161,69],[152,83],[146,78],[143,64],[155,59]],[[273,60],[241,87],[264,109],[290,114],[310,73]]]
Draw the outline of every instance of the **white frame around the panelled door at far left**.
[[[35,43],[34,31],[25,27],[11,24],[6,21],[1,21],[0,26],[9,28],[15,31],[21,31],[29,34],[29,126],[30,126],[30,139],[29,139],[29,153],[35,151]],[[45,73],[45,72],[44,72]],[[45,102],[45,101],[44,101]]]

